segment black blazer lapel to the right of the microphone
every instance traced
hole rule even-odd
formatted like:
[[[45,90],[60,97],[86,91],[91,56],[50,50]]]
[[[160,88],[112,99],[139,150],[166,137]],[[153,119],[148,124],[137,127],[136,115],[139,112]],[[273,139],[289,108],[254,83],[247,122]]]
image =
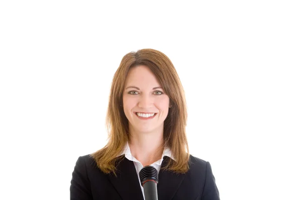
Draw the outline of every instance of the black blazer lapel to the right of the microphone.
[[[164,156],[162,166],[165,166],[169,159],[171,158]],[[157,185],[159,200],[171,200],[184,177],[185,174],[177,174],[175,172],[161,169],[159,173],[159,183]]]

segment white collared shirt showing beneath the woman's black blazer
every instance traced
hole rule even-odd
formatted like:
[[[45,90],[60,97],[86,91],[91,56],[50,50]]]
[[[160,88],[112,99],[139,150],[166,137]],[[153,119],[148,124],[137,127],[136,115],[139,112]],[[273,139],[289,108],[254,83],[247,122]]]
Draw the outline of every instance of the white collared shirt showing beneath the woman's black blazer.
[[[126,144],[126,146],[125,146],[123,152],[121,153],[121,155],[123,155],[123,154],[125,154],[125,157],[128,160],[133,161],[133,164],[134,164],[135,169],[136,169],[139,185],[140,185],[142,195],[143,195],[143,198],[144,198],[143,187],[141,186],[140,179],[139,179],[139,171],[142,169],[143,166],[135,157],[132,156],[128,143]],[[150,164],[151,166],[154,166],[158,170],[158,172],[160,172],[161,165],[162,165],[162,162],[164,160],[164,156],[168,156],[168,157],[172,158],[173,160],[175,160],[174,157],[172,156],[171,150],[169,148],[165,148],[164,151],[163,151],[162,158],[160,160]]]

